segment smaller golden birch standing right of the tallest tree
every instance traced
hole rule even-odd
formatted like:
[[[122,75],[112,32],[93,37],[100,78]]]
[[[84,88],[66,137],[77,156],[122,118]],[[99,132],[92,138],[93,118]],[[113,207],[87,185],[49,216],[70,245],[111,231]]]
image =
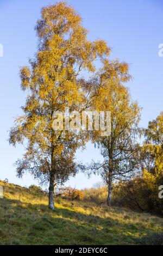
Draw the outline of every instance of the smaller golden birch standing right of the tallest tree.
[[[123,86],[130,79],[128,64],[117,60],[104,60],[103,67],[94,78],[97,96],[93,97],[92,108],[110,111],[111,132],[101,136],[94,131],[92,140],[101,149],[103,162],[92,162],[89,170],[100,173],[108,186],[108,205],[111,205],[112,182],[126,179],[136,170],[136,135],[139,131],[140,108],[131,101],[129,91]]]

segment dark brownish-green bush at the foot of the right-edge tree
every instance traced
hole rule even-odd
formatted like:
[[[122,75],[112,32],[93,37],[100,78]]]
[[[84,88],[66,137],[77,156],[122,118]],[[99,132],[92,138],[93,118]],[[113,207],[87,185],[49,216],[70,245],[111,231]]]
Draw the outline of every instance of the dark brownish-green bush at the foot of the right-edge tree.
[[[160,184],[162,184],[161,181]],[[162,199],[158,197],[158,187],[159,184],[144,176],[119,182],[114,186],[112,204],[162,216]]]

